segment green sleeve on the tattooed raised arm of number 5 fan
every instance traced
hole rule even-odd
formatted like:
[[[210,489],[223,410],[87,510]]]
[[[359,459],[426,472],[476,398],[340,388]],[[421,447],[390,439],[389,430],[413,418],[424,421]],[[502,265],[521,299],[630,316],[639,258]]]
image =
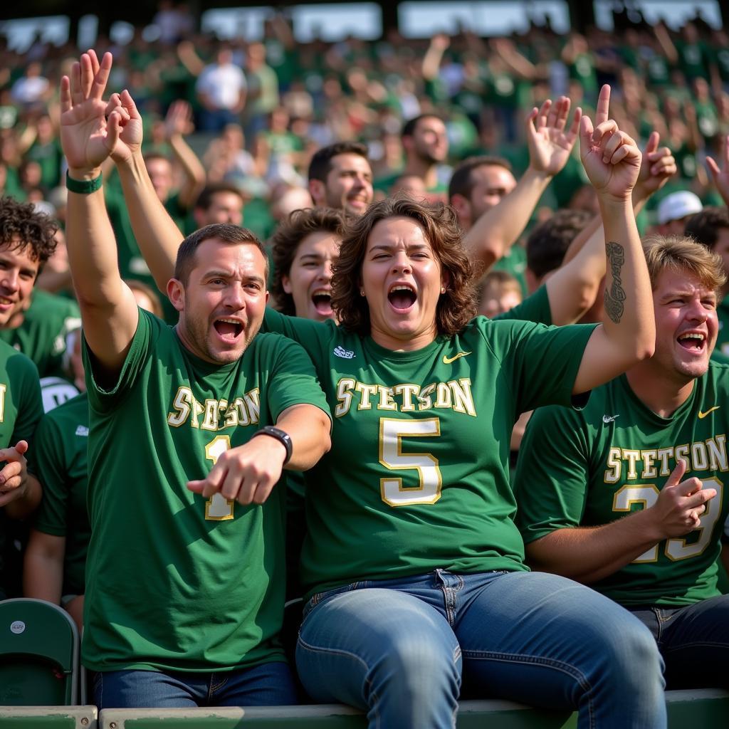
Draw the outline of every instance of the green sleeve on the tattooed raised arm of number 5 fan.
[[[511,380],[518,413],[573,404],[574,379],[596,324],[545,327],[528,321],[484,321],[494,327],[494,336],[486,341]]]

